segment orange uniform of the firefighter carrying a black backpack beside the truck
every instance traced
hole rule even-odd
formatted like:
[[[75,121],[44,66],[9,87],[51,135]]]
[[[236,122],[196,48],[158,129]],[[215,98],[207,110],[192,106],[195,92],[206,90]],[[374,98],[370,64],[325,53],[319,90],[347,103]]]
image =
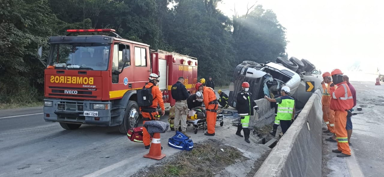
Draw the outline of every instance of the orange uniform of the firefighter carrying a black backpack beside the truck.
[[[145,88],[149,88],[152,85],[154,85],[152,82],[149,82]],[[156,85],[152,87],[152,95],[153,95],[153,101],[152,106],[149,108],[142,108],[140,107],[141,116],[143,117],[143,124],[146,121],[156,120],[155,116],[159,115],[159,113],[156,111],[157,104],[160,105],[160,108],[162,111],[165,111],[164,108],[164,101],[163,101],[163,94],[161,93],[159,87]],[[144,146],[149,146],[151,143],[151,136],[149,135],[146,128],[143,127],[143,143]]]

